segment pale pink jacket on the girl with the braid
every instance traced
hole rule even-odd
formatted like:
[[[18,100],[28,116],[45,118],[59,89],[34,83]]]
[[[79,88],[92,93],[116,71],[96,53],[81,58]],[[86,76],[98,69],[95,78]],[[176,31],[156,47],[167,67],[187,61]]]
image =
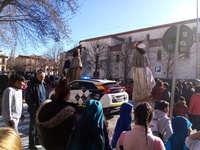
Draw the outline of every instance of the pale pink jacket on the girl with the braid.
[[[149,144],[146,146],[145,127],[141,125],[135,125],[131,131],[126,132],[123,142],[124,150],[165,150],[164,144],[159,137],[152,134],[151,129],[148,128],[147,138]],[[157,148],[154,148],[154,141],[158,141]],[[116,150],[120,150],[119,139],[117,142]]]

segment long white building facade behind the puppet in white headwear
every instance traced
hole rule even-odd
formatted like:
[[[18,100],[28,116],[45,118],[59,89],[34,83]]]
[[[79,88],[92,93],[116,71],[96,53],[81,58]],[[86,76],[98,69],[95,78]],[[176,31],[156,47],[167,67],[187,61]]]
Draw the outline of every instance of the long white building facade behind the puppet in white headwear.
[[[163,36],[170,27],[177,25],[186,25],[191,29],[194,43],[189,49],[178,53],[177,67],[174,70],[174,53],[164,48]],[[100,78],[133,78],[133,45],[137,41],[143,41],[147,46],[149,67],[155,78],[172,78],[173,74],[177,79],[200,78],[196,32],[197,23],[193,19],[82,40],[82,75],[93,76],[98,71]],[[92,56],[94,53],[96,55]]]

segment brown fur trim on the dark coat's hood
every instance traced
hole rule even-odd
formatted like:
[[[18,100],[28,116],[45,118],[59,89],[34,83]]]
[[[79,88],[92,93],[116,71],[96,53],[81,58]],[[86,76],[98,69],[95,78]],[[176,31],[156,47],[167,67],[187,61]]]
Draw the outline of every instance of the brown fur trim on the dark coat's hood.
[[[70,116],[74,115],[76,110],[74,107],[72,106],[66,106],[63,107],[63,109],[61,109],[55,116],[53,116],[51,119],[49,119],[48,121],[41,121],[40,118],[40,112],[41,110],[44,108],[44,106],[46,106],[47,104],[51,103],[51,100],[46,100],[38,109],[37,113],[36,113],[36,123],[38,125],[41,125],[43,127],[46,128],[54,128],[56,126],[58,126],[59,124],[61,124],[64,120],[66,120],[67,118],[69,118]]]

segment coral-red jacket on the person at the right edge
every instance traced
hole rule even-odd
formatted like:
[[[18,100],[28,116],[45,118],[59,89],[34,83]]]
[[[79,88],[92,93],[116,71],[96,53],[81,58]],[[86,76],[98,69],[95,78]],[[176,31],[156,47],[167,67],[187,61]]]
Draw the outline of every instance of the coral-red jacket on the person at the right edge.
[[[188,112],[192,115],[200,115],[200,93],[194,93],[190,99]]]

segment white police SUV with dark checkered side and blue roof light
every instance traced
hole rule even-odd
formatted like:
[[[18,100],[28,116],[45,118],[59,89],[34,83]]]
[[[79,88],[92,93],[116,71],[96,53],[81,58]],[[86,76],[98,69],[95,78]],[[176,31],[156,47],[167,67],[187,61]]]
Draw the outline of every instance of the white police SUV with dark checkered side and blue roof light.
[[[102,103],[104,113],[110,114],[119,111],[120,106],[129,101],[126,88],[113,80],[84,78],[70,82],[69,86],[69,102],[80,108],[84,108],[88,100],[95,99]],[[52,93],[54,91],[49,96]]]

